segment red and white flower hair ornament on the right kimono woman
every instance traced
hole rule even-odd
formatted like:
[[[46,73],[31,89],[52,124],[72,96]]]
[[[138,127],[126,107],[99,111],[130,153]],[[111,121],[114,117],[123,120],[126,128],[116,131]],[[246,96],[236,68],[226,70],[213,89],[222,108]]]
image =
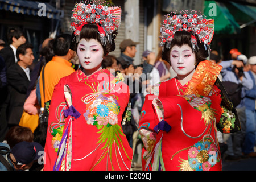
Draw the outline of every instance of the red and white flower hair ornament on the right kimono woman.
[[[214,19],[205,19],[203,15],[197,15],[193,11],[190,14],[180,11],[179,14],[174,12],[166,15],[166,19],[160,27],[161,46],[166,44],[166,48],[169,49],[175,32],[183,30],[191,32],[193,50],[195,50],[195,47],[198,48],[195,35],[198,36],[200,42],[204,43],[206,49],[206,46],[209,47],[214,34]]]

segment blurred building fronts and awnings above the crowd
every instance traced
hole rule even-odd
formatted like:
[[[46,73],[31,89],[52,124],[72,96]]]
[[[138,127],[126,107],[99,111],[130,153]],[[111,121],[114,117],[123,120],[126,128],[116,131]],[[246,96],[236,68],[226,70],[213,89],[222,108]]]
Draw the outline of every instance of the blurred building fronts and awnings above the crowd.
[[[34,46],[35,60],[39,47],[46,38],[69,33],[73,0],[0,0],[0,39],[6,42],[9,27],[20,27],[27,42]],[[105,1],[104,1],[105,2]],[[158,53],[159,28],[164,15],[171,11],[191,9],[213,18],[215,33],[211,49],[220,53],[222,60],[229,60],[229,51],[237,48],[247,57],[256,51],[256,0],[206,1],[206,0],[112,0],[106,1],[122,8],[122,22],[113,52],[119,56],[119,43],[131,38],[139,42],[134,64],[141,63],[146,49]],[[37,54],[35,54],[37,53]]]

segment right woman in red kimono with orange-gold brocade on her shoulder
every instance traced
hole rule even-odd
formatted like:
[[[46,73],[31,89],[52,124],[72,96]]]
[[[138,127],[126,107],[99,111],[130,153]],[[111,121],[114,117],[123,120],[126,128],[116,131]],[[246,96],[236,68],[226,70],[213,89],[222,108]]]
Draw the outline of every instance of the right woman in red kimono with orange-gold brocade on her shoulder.
[[[213,20],[201,15],[166,16],[162,59],[177,77],[153,86],[146,96],[139,121],[143,170],[222,169],[217,126],[225,133],[235,126],[225,117],[232,112],[221,106],[221,66],[205,60],[213,30]]]

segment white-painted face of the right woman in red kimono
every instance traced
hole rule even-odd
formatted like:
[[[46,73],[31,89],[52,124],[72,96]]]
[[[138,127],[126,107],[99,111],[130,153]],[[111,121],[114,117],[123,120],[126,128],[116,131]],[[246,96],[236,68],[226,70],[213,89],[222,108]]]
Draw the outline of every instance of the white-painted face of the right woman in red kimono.
[[[183,80],[184,85],[191,80],[195,72],[195,53],[193,53],[191,47],[183,44],[181,47],[172,47],[170,56],[172,68],[177,73],[178,79]]]

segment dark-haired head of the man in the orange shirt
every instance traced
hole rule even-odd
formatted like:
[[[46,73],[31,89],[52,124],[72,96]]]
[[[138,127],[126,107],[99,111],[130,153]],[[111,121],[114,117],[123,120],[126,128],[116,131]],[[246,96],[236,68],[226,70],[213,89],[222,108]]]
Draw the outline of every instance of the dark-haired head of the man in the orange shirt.
[[[56,56],[65,56],[69,51],[71,44],[70,34],[61,34],[54,39],[53,53]]]

